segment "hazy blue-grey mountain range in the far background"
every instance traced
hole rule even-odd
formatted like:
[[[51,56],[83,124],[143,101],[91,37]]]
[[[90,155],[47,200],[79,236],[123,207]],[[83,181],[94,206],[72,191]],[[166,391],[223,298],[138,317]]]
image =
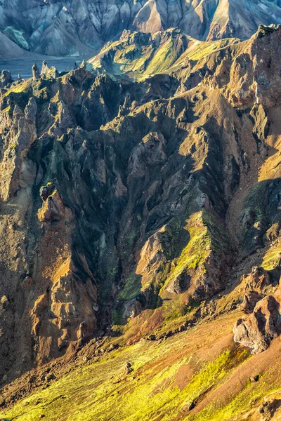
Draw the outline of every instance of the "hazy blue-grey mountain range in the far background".
[[[202,41],[248,39],[281,21],[280,0],[2,0],[0,30],[27,51],[91,57],[124,29],[178,27]]]

